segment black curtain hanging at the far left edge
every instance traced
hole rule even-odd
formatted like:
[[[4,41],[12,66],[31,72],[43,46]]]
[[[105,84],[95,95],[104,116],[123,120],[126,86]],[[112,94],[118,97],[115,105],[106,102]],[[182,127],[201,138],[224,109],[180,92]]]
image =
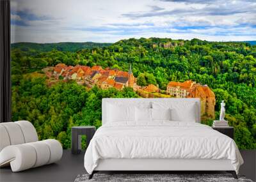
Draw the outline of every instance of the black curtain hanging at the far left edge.
[[[0,1],[0,122],[11,121],[10,0]]]

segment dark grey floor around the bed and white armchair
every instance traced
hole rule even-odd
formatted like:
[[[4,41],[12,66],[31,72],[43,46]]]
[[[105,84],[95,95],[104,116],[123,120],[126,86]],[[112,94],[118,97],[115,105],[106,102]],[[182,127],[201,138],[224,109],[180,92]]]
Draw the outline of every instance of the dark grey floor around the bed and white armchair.
[[[244,164],[240,174],[256,181],[256,150],[242,150],[241,155]],[[64,150],[62,159],[57,163],[22,172],[12,172],[10,167],[0,169],[0,181],[74,181],[78,174],[86,173],[83,162],[84,153],[72,155],[70,150]]]

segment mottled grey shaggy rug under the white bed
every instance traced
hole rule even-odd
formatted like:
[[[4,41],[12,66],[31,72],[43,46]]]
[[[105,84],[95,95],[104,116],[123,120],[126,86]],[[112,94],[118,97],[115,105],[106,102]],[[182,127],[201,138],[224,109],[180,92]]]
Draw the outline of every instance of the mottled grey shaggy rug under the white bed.
[[[241,181],[253,182],[251,179],[246,179],[244,176],[239,176],[239,179],[232,178],[231,174],[95,174],[95,177],[88,179],[89,174],[78,175],[75,182],[111,182],[111,181]]]

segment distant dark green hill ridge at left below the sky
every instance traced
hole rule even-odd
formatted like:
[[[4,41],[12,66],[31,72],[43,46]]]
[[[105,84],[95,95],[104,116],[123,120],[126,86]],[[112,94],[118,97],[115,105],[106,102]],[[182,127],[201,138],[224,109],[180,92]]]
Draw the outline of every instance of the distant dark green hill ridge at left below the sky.
[[[28,51],[34,49],[42,52],[48,52],[52,49],[60,51],[76,52],[81,49],[92,49],[93,47],[106,47],[111,43],[95,43],[95,42],[60,42],[60,43],[30,43],[19,42],[12,43],[12,49],[20,49],[22,51]]]

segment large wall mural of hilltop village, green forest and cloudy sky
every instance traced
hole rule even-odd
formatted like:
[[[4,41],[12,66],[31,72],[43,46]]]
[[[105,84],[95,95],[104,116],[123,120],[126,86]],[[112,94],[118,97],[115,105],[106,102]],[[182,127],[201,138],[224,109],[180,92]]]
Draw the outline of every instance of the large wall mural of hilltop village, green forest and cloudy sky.
[[[11,1],[12,120],[31,121],[40,140],[70,148],[72,126],[101,125],[102,98],[200,98],[202,123],[224,100],[237,146],[256,149],[256,45],[242,41],[255,26],[234,11],[227,27],[214,8],[182,14],[184,2],[45,2]],[[239,3],[250,7],[229,8]]]

